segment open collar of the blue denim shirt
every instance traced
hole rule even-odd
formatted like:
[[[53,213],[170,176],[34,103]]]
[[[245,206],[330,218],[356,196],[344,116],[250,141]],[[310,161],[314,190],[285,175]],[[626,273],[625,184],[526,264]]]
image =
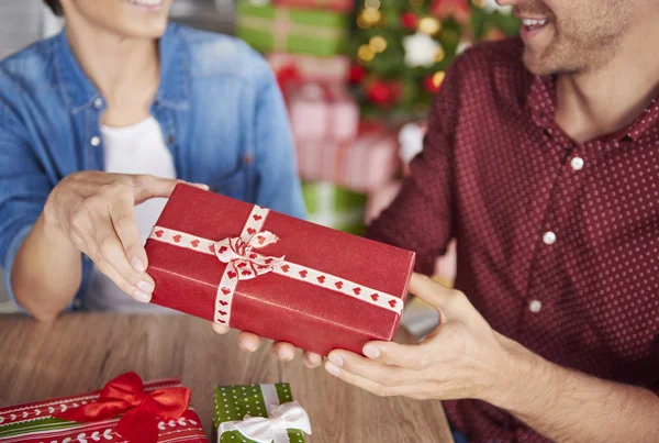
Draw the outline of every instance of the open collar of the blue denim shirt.
[[[167,108],[186,110],[189,107],[190,60],[187,48],[178,35],[178,26],[170,23],[158,42],[160,52],[160,85],[155,103]],[[78,113],[93,106],[101,97],[76,59],[63,30],[55,37],[55,70],[59,88],[71,111]]]

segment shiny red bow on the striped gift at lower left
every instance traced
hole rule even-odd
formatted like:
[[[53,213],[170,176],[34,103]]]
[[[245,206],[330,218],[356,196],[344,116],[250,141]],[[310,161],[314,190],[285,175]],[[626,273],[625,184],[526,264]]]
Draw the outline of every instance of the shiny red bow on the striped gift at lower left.
[[[158,422],[178,420],[190,403],[190,389],[166,388],[144,390],[135,373],[120,375],[101,390],[98,401],[54,416],[76,422],[108,420],[120,414],[116,432],[132,443],[156,443]]]

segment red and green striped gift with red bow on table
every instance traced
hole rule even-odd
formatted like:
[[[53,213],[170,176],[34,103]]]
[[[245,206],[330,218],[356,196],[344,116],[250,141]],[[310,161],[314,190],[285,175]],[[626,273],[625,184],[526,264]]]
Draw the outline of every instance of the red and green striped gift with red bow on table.
[[[0,409],[0,442],[208,442],[176,379],[123,374],[101,390]]]

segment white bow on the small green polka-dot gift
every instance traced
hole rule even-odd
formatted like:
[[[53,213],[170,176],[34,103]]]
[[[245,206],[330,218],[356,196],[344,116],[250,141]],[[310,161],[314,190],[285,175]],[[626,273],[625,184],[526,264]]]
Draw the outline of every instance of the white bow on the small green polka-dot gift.
[[[257,443],[270,443],[278,434],[286,436],[289,429],[299,429],[311,434],[309,416],[299,402],[291,401],[279,406],[269,406],[268,412],[268,418],[247,414],[243,421],[221,423],[217,430],[217,441],[222,439],[223,433],[231,431],[238,431],[246,439]],[[288,442],[288,436],[284,441]]]

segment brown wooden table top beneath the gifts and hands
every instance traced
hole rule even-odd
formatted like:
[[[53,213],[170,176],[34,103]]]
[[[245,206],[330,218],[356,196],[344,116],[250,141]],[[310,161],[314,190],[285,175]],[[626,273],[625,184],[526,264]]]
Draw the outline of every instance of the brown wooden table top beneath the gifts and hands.
[[[438,401],[379,398],[322,368],[278,362],[268,347],[244,353],[234,333],[188,315],[68,314],[54,324],[0,315],[0,406],[94,390],[131,370],[178,376],[210,436],[214,386],[288,381],[311,417],[311,443],[453,442]]]

